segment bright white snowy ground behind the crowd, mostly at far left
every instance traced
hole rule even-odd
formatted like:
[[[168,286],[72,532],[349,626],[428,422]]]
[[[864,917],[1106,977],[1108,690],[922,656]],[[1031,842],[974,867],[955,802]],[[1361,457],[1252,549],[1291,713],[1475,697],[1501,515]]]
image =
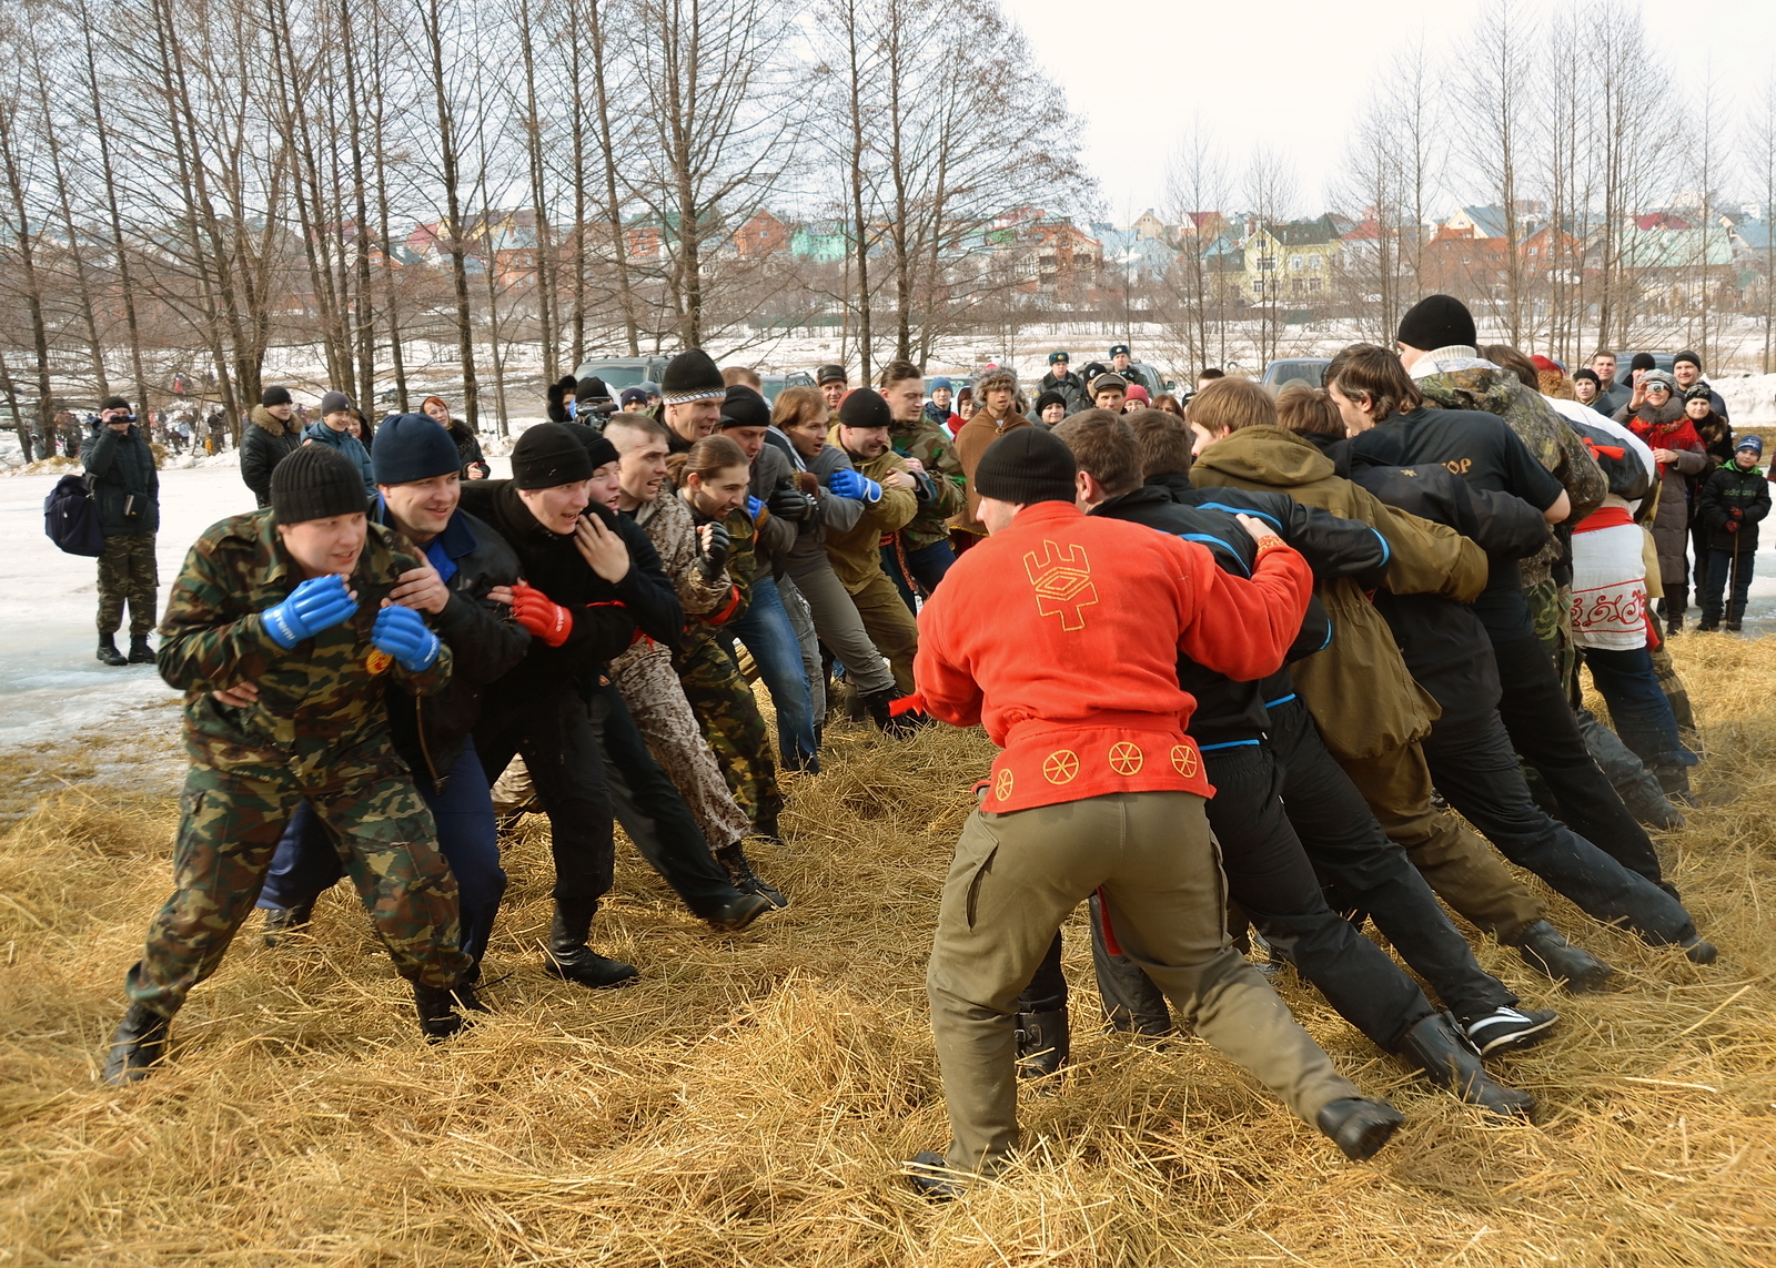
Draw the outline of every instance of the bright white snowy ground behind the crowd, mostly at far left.
[[[496,476],[504,460],[490,458]],[[12,547],[0,558],[0,749],[39,744],[87,728],[140,725],[142,705],[172,693],[153,666],[110,670],[92,659],[98,607],[92,559],[62,554],[43,535],[43,499],[57,476],[0,479],[0,531]],[[160,472],[160,595],[178,575],[190,543],[215,520],[252,510],[233,455]],[[1776,618],[1776,529],[1764,533],[1749,620]],[[119,636],[119,643],[123,638]],[[131,714],[135,721],[131,721]]]

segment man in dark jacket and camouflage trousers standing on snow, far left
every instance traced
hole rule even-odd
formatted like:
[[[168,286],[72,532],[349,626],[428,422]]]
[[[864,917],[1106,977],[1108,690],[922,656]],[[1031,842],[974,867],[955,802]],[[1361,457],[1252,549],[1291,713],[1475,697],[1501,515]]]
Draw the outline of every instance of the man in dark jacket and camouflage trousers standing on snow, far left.
[[[130,401],[107,396],[99,421],[80,448],[87,490],[105,531],[99,556],[99,664],[153,664],[147,632],[155,629],[160,574],[155,529],[160,527],[160,474],[155,451],[135,423]],[[130,606],[130,655],[117,650],[123,607]]]

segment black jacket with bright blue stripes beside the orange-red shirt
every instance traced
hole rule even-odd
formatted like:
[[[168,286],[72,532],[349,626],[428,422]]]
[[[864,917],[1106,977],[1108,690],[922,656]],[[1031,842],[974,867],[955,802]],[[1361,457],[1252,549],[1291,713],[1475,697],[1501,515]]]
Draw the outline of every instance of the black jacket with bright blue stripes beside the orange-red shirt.
[[[1176,481],[1183,481],[1181,487]],[[1192,497],[1201,494],[1204,503],[1215,504],[1185,503],[1174,497],[1174,487]],[[1092,508],[1092,515],[1146,524],[1208,547],[1224,572],[1250,577],[1257,561],[1257,543],[1234,520],[1236,513],[1265,519],[1284,542],[1307,558],[1309,565],[1327,567],[1330,575],[1380,574],[1385,567],[1387,542],[1368,524],[1327,515],[1282,494],[1240,488],[1197,490],[1183,476],[1154,476],[1142,488]],[[1291,540],[1291,533],[1296,540]],[[1300,661],[1325,650],[1330,641],[1332,623],[1320,600],[1312,598],[1288,659]],[[1190,735],[1206,748],[1259,739],[1270,726],[1266,701],[1280,703],[1295,694],[1288,670],[1257,682],[1234,682],[1185,655],[1177,657],[1177,686],[1197,700],[1197,709],[1190,716]]]

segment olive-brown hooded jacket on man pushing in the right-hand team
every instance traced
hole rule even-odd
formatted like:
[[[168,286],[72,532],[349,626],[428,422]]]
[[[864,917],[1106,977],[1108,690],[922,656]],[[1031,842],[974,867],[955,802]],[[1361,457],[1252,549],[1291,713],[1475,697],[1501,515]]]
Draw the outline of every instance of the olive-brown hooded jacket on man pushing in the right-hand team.
[[[1273,488],[1343,519],[1364,520],[1389,547],[1385,586],[1471,602],[1487,584],[1487,554],[1442,524],[1382,504],[1343,479],[1305,437],[1280,426],[1250,426],[1217,440],[1197,458],[1199,487]],[[1291,677],[1327,748],[1343,760],[1380,757],[1430,733],[1437,701],[1412,675],[1387,623],[1355,581],[1323,581],[1320,602],[1332,618],[1332,645],[1293,666]]]

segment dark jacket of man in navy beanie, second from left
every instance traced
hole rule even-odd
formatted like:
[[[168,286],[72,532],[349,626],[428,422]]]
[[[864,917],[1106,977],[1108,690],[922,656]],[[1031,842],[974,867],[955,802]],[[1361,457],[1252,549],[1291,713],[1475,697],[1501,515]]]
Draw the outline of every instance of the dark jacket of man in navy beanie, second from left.
[[[385,510],[373,508],[371,517],[387,524]],[[464,741],[481,716],[481,693],[524,659],[531,634],[511,620],[508,607],[487,600],[488,590],[519,579],[519,556],[499,533],[458,510],[433,545],[456,565],[455,575],[444,582],[451,591],[449,602],[430,618],[432,629],[451,650],[449,682],[423,700],[391,686],[387,703],[394,749],[417,778],[430,780],[432,790],[442,794]]]

